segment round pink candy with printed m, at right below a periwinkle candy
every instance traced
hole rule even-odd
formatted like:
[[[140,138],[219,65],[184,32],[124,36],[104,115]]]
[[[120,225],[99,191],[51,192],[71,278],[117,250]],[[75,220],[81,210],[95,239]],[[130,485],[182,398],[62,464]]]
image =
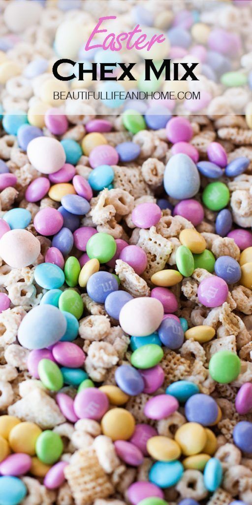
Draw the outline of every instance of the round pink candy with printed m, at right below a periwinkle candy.
[[[228,285],[221,279],[212,275],[201,281],[198,287],[199,302],[205,307],[219,307],[228,297]]]

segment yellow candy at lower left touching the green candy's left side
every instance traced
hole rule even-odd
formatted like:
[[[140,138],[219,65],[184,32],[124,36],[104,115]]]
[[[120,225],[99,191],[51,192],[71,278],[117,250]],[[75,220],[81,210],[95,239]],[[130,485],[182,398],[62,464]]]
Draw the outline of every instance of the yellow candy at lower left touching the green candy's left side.
[[[24,422],[12,428],[9,443],[14,452],[25,452],[29,456],[35,455],[35,445],[42,430],[35,423]]]

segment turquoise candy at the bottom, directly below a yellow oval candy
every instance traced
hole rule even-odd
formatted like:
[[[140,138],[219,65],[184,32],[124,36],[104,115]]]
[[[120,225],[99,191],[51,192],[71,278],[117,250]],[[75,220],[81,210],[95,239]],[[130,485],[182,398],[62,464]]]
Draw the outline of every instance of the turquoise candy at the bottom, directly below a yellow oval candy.
[[[152,465],[149,472],[149,481],[161,488],[174,486],[184,472],[180,461],[157,461]]]

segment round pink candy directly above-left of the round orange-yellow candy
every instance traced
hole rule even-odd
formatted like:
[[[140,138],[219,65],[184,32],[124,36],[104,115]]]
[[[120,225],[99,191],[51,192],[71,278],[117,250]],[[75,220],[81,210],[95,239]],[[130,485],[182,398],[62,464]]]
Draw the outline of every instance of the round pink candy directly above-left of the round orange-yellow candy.
[[[95,387],[88,387],[77,393],[74,409],[80,419],[95,419],[99,421],[109,407],[108,397]]]

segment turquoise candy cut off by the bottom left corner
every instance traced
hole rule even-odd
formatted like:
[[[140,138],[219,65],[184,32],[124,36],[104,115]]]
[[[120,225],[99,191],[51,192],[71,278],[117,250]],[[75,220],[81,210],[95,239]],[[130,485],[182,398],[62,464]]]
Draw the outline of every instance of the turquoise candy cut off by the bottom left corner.
[[[27,495],[24,482],[18,477],[0,477],[0,503],[1,505],[18,505]]]

